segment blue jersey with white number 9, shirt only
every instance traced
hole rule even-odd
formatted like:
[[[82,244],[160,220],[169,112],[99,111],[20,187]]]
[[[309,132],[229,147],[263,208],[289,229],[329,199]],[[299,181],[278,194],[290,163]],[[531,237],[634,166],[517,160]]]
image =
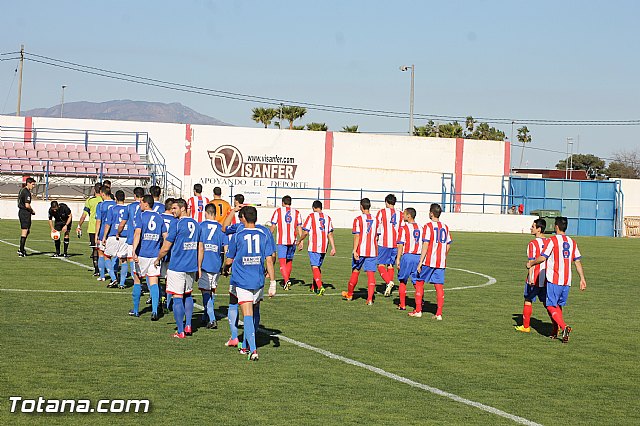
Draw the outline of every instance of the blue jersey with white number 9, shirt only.
[[[183,217],[169,226],[167,241],[172,243],[169,270],[196,272],[198,270],[198,222]]]

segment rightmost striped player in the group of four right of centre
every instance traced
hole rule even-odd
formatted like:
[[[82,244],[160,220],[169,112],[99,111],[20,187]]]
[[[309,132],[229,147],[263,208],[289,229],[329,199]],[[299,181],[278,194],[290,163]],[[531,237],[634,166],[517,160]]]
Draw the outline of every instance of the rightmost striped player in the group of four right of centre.
[[[422,316],[422,296],[424,295],[424,283],[432,283],[436,289],[436,301],[438,310],[434,319],[442,320],[442,307],[444,306],[444,272],[447,266],[447,255],[451,247],[451,234],[449,227],[440,222],[442,207],[440,204],[431,204],[429,219],[422,228],[422,253],[418,264],[418,281],[416,282],[416,310],[409,312],[409,316],[420,318]]]

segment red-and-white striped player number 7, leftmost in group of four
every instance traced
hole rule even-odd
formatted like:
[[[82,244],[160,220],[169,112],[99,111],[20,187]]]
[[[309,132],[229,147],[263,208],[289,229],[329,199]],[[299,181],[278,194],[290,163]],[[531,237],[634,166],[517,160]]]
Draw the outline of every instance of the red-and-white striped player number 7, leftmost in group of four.
[[[342,298],[353,300],[353,290],[358,284],[360,269],[364,266],[367,273],[367,305],[373,305],[373,293],[376,289],[376,257],[378,255],[378,223],[369,212],[371,200],[360,200],[362,214],[353,220],[353,257],[351,259],[351,278],[348,290],[342,292]]]

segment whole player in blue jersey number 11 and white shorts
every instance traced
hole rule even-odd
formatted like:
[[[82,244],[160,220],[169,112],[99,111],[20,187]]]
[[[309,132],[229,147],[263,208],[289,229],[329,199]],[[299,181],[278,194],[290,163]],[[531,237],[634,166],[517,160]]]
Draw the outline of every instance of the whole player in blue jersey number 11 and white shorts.
[[[243,208],[241,220],[244,223],[244,228],[238,231],[229,243],[224,268],[224,271],[228,272],[233,264],[231,287],[233,287],[242,308],[244,335],[248,343],[248,348],[242,348],[246,352],[241,350],[241,353],[248,353],[250,361],[258,360],[255,331],[260,320],[254,318],[254,310],[259,310],[260,301],[263,299],[265,263],[270,280],[269,297],[276,294],[273,252],[268,235],[271,233],[257,228],[257,219],[258,212],[255,207],[246,206]]]

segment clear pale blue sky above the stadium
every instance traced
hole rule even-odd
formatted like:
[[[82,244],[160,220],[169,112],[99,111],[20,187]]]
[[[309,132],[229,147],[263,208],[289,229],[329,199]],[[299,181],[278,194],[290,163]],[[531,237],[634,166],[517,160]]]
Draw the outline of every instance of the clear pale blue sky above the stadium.
[[[512,119],[640,119],[640,2],[27,1],[3,5],[0,53],[18,50],[258,96]],[[0,62],[2,112],[15,111],[15,61]],[[181,102],[239,126],[258,103],[180,93],[27,62],[22,108],[136,99]],[[11,88],[11,90],[10,90]],[[5,99],[8,101],[5,103]],[[407,119],[309,110],[330,129],[407,131]],[[424,124],[416,120],[416,125]],[[498,125],[508,136],[510,125]],[[517,127],[517,124],[516,124]],[[611,157],[640,149],[636,126],[529,126],[532,147]],[[577,144],[576,144],[577,145]],[[577,148],[577,146],[576,146]],[[527,150],[529,166],[563,155]],[[514,151],[517,166],[520,150]]]

